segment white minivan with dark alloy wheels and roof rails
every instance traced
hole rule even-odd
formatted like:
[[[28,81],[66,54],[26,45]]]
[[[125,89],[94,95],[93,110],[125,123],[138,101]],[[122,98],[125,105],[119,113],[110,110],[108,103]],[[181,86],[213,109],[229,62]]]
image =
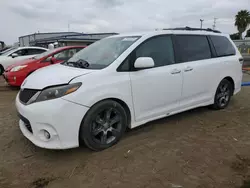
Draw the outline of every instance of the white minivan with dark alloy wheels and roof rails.
[[[192,108],[225,108],[241,90],[243,59],[228,35],[177,28],[102,39],[31,74],[16,97],[35,145],[93,150],[126,128]]]

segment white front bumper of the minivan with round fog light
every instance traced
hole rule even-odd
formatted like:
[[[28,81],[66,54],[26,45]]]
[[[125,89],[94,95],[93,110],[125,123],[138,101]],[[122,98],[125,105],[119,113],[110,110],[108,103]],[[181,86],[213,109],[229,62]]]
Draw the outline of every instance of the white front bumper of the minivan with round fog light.
[[[79,146],[79,129],[89,108],[64,99],[23,105],[16,97],[23,135],[33,144],[47,149],[69,149]],[[44,131],[50,134],[47,139]]]

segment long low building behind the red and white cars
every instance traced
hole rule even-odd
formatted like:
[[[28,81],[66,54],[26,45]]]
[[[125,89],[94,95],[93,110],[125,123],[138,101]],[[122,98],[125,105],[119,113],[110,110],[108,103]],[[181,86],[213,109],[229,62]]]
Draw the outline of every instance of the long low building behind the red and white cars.
[[[89,45],[102,38],[115,35],[117,33],[34,33],[19,37],[20,46],[42,46],[48,47],[51,43],[58,43],[59,46],[69,45]]]

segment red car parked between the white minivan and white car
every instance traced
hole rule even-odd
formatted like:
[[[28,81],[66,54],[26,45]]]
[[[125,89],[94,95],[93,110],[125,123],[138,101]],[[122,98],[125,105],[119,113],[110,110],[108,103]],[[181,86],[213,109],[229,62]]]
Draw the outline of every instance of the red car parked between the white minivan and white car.
[[[68,60],[83,48],[85,46],[65,46],[44,52],[7,67],[3,77],[9,85],[21,86],[24,79],[35,70]]]

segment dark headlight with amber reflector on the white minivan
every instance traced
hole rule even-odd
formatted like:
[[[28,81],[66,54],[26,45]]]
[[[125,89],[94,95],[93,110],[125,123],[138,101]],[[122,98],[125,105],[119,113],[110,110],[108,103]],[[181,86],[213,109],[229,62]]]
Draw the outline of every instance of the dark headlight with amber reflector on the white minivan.
[[[47,88],[41,91],[35,102],[60,98],[64,95],[68,95],[70,93],[75,92],[81,85],[82,83],[75,83],[70,85]]]

